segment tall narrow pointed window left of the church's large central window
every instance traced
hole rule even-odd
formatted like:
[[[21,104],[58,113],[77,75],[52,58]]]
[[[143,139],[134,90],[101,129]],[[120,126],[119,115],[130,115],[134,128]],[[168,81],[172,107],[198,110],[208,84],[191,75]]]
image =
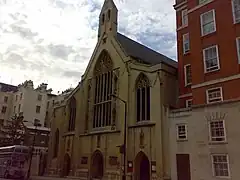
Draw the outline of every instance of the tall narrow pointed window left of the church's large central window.
[[[68,131],[75,130],[75,120],[76,120],[76,99],[72,97],[69,103],[70,116],[68,121]]]

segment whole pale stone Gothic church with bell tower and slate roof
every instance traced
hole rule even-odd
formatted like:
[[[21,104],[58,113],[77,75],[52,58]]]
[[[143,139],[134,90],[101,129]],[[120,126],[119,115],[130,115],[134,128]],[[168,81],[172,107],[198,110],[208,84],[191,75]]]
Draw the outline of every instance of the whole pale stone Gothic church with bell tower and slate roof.
[[[49,175],[170,179],[167,114],[178,97],[177,62],[120,34],[117,20],[116,5],[105,0],[81,82],[54,109]]]

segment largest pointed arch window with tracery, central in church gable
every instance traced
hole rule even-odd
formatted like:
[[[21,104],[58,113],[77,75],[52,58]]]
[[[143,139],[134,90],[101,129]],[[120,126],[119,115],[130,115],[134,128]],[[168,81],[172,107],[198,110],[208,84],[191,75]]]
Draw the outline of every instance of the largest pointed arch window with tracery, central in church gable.
[[[111,126],[113,92],[113,63],[106,51],[103,51],[95,65],[95,92],[93,128]]]

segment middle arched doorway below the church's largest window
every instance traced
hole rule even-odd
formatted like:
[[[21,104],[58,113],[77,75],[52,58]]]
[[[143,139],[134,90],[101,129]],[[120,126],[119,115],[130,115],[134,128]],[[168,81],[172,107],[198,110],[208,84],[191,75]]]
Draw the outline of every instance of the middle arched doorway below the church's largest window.
[[[103,178],[103,155],[100,151],[95,151],[92,155],[91,177],[94,179]]]

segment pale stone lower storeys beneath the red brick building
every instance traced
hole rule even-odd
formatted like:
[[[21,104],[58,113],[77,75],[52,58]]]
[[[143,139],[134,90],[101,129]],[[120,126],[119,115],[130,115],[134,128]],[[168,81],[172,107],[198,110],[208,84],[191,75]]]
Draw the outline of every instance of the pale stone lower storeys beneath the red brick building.
[[[239,180],[239,118],[240,101],[170,111],[172,180],[188,179],[188,163],[192,180]]]

